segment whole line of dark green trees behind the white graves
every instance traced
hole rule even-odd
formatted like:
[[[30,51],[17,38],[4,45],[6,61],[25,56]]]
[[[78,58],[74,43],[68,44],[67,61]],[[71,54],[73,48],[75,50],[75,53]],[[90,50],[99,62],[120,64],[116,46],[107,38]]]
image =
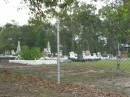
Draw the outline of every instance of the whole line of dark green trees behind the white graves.
[[[57,24],[50,23],[56,17],[60,19],[60,49],[66,55],[70,51],[80,54],[83,50],[116,54],[118,43],[130,44],[129,0],[115,0],[100,10],[93,4],[65,0],[60,12],[56,10],[56,0],[26,1],[33,18],[28,25],[8,23],[0,27],[0,51],[16,49],[18,40],[23,46],[43,50],[49,41],[56,53]]]

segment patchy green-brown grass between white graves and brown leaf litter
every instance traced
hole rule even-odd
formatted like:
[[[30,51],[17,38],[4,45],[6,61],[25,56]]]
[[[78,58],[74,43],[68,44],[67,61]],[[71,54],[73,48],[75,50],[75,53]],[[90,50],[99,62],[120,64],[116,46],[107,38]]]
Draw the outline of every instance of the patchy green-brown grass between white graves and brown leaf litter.
[[[129,59],[63,62],[60,64],[60,81],[83,86],[90,85],[103,91],[118,91],[130,95],[129,62]],[[120,64],[119,68],[117,64]],[[57,82],[57,64],[33,66],[6,64],[1,65],[0,68],[1,73],[2,70],[8,70],[15,75],[34,76]]]

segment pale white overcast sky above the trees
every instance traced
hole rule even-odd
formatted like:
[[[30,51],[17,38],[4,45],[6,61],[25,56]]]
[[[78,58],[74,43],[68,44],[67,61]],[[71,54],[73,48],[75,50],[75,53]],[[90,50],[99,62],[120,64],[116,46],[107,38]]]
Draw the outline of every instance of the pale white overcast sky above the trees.
[[[22,3],[22,0],[0,0],[0,26],[6,23],[16,23],[24,25],[28,23],[29,9]],[[80,0],[81,2],[90,2],[90,0]],[[98,8],[101,8],[104,3],[94,3]]]

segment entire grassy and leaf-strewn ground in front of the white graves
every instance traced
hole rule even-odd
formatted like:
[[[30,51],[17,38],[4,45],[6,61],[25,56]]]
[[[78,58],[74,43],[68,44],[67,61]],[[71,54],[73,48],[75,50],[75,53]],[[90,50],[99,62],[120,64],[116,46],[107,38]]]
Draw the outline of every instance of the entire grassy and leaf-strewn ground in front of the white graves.
[[[119,71],[114,60],[64,63],[61,85],[57,84],[56,65],[1,65],[0,87],[4,92],[0,96],[127,97],[130,95],[129,60],[123,63]]]

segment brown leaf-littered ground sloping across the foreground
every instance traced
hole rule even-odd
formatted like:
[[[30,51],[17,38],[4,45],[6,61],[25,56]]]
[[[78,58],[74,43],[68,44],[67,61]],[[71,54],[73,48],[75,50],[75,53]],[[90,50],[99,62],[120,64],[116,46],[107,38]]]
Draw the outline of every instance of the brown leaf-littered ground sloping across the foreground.
[[[10,70],[3,70],[1,76],[3,78],[0,82],[0,97],[39,97],[38,94],[43,89],[55,90],[59,94],[71,94],[69,97],[128,97],[114,91],[104,92],[93,85],[57,84],[55,81],[39,77],[15,75]]]

